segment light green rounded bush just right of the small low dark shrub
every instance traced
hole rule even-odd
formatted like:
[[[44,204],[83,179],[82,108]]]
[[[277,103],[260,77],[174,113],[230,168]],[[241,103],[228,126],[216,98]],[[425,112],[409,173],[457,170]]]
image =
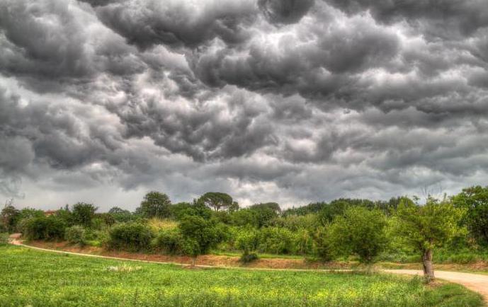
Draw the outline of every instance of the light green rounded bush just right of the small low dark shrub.
[[[263,228],[259,235],[258,250],[261,253],[293,253],[293,233],[285,228]]]

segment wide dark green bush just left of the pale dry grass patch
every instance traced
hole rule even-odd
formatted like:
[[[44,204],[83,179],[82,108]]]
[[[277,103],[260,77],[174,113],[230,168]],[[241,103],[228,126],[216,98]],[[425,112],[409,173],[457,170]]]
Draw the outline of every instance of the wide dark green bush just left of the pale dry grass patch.
[[[153,238],[151,229],[140,223],[122,223],[109,231],[108,248],[116,250],[149,250]]]

